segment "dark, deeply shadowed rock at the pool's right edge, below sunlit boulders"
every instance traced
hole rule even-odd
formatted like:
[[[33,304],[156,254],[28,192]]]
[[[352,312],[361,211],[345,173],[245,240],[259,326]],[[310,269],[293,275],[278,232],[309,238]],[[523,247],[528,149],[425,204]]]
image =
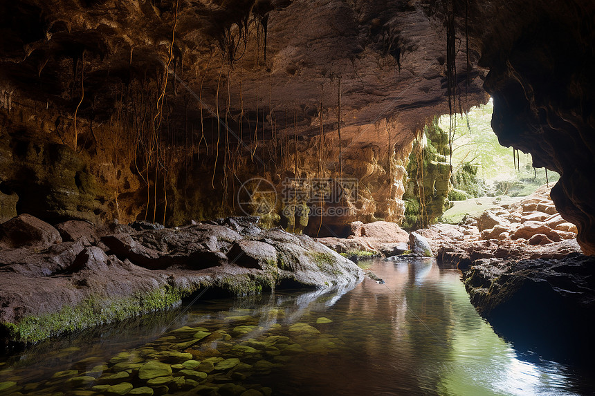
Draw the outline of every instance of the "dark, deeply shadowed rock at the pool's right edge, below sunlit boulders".
[[[589,361],[595,347],[589,331],[595,325],[594,264],[580,254],[487,259],[464,270],[463,279],[475,308],[515,348],[546,359]]]

